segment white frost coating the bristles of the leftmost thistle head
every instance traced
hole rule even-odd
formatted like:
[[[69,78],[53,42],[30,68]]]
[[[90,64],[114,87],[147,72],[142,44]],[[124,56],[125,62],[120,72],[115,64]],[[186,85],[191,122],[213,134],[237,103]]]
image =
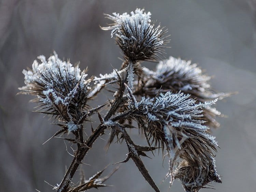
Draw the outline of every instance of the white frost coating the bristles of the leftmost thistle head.
[[[78,87],[86,94],[86,86],[89,83],[86,80],[87,74],[84,71],[81,72],[78,66],[73,67],[69,61],[60,60],[56,52],[48,58],[48,61],[43,55],[38,59],[41,63],[35,60],[32,64],[32,71],[23,70],[26,86],[21,90],[29,90],[28,88],[33,83],[44,86],[42,94],[45,98],[42,95],[38,98],[48,106],[52,106],[53,103],[68,105],[69,101],[74,98]]]

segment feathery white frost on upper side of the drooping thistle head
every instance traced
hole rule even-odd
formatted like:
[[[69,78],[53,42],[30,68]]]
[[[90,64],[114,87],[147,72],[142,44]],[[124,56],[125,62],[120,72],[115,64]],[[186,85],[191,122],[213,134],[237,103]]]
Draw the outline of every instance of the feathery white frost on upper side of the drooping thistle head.
[[[152,121],[162,119],[164,115],[167,117],[164,119],[167,124],[175,128],[186,128],[205,131],[209,128],[203,123],[205,122],[201,118],[203,117],[203,107],[210,107],[217,99],[196,104],[194,99],[189,99],[189,94],[167,92],[166,94],[159,94],[159,97],[152,99],[145,99],[138,103],[138,107],[144,114]],[[154,114],[154,115],[153,115]],[[166,130],[168,131],[168,130]]]

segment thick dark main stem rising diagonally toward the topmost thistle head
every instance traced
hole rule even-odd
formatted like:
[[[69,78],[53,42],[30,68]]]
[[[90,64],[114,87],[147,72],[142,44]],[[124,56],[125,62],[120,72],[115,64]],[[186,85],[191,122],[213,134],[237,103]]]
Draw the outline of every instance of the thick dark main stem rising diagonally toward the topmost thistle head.
[[[124,64],[122,65],[125,66],[125,64],[128,64],[131,61],[126,60],[124,62]],[[115,99],[113,105],[111,106],[111,108],[109,109],[108,113],[106,114],[104,121],[108,121],[110,119],[110,117],[112,115],[115,114],[116,110],[118,109],[120,103],[122,102],[122,98],[124,95],[124,91],[125,91],[125,83],[127,81],[127,75],[128,73],[126,73],[126,77],[125,79],[122,80],[122,83],[120,83],[120,89],[119,89],[119,95],[118,97]],[[71,179],[73,178],[78,166],[81,164],[82,160],[84,159],[86,153],[89,151],[89,149],[91,148],[91,146],[93,145],[93,143],[96,141],[96,139],[104,133],[104,129],[105,126],[102,124],[99,124],[98,127],[94,130],[94,132],[90,135],[90,137],[86,140],[86,142],[84,143],[84,139],[83,139],[83,129],[82,127],[80,128],[80,130],[75,134],[76,139],[78,139],[80,141],[80,143],[85,144],[84,146],[81,146],[81,144],[77,144],[77,150],[75,153],[75,157],[73,158],[65,176],[63,177],[57,192],[66,192],[68,190],[69,187],[69,183],[71,181]],[[85,147],[87,146],[87,147]]]

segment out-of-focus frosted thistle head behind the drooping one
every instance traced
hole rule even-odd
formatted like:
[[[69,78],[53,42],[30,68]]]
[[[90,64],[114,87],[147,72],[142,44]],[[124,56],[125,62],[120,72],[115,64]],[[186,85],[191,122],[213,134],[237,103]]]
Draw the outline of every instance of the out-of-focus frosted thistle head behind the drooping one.
[[[210,76],[202,74],[202,70],[197,64],[185,61],[180,58],[169,57],[160,61],[155,71],[147,68],[142,69],[145,74],[144,94],[154,97],[158,90],[161,92],[172,90],[173,92],[182,91],[190,94],[197,102],[210,101],[212,99],[223,99],[230,93],[214,93],[208,81]],[[215,116],[223,116],[216,108],[207,107],[204,109],[207,123],[213,127],[218,127],[219,123]]]

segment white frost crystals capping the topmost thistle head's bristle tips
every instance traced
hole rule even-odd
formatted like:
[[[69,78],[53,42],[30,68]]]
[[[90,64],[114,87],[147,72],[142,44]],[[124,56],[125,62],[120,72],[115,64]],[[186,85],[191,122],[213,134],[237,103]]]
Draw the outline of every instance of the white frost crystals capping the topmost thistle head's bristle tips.
[[[112,21],[114,21],[114,24],[109,26],[109,27],[102,27],[103,30],[112,30],[111,31],[111,37],[113,37],[113,34],[115,34],[116,32],[119,32],[120,28],[122,27],[122,25],[124,25],[125,21],[129,21],[129,20],[135,20],[137,19],[138,21],[142,21],[145,20],[146,22],[144,23],[145,27],[148,27],[150,25],[150,16],[151,13],[150,12],[144,12],[144,9],[136,9],[134,12],[132,11],[130,14],[128,13],[123,13],[122,15],[120,15],[119,13],[112,13],[112,15],[106,14],[108,16],[108,18]]]

